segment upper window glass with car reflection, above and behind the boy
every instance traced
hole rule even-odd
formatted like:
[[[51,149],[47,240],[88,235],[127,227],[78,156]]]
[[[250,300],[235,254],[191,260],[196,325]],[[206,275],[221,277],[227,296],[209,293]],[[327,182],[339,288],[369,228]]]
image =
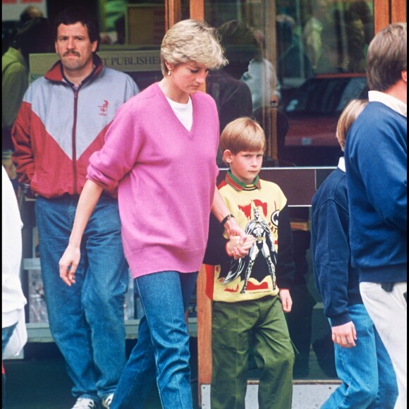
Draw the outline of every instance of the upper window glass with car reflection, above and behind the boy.
[[[204,6],[211,25],[221,31],[230,26],[226,75],[218,90],[214,80],[207,87],[218,103],[221,124],[234,116],[255,116],[269,142],[267,165],[336,166],[338,116],[350,99],[367,94],[373,1],[207,0]],[[228,75],[248,86],[251,105],[248,89],[234,87]]]

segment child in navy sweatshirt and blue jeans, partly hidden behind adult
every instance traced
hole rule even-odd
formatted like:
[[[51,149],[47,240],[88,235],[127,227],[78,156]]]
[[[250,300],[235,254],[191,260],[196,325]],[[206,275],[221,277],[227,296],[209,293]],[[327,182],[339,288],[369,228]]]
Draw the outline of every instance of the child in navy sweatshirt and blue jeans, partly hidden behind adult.
[[[338,121],[341,149],[348,130],[367,102],[353,99]],[[350,264],[345,161],[312,198],[312,260],[315,283],[331,324],[335,365],[342,384],[322,408],[393,409],[398,388],[384,344],[362,303],[358,269]]]

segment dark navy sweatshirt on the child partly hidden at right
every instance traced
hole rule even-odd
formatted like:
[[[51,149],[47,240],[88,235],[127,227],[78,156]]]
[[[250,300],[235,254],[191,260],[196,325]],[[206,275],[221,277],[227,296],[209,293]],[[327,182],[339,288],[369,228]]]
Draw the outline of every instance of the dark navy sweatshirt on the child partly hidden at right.
[[[324,314],[334,326],[350,322],[348,305],[362,304],[358,269],[350,264],[345,172],[337,168],[312,197],[312,262]]]

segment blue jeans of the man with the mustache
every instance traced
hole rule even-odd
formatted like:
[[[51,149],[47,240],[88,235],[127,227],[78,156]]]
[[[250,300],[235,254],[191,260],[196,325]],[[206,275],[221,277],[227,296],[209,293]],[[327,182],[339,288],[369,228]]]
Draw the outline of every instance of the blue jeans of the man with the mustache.
[[[101,197],[85,228],[75,284],[59,276],[78,199],[37,197],[35,212],[49,326],[66,360],[75,398],[113,393],[126,364],[123,303],[128,265],[118,202]]]

